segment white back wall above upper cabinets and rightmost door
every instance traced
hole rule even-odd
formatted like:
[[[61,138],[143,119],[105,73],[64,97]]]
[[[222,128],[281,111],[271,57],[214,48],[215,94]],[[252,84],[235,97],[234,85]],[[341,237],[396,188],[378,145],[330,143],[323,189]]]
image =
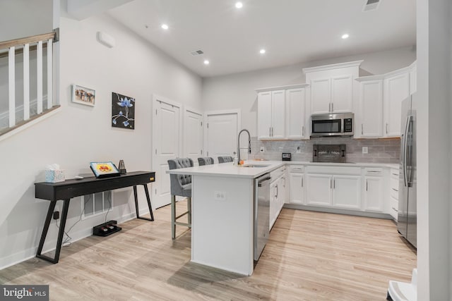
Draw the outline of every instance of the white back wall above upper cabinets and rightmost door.
[[[364,60],[360,68],[360,75],[370,75],[383,74],[409,66],[415,59],[415,49],[405,47],[372,54],[205,78],[203,80],[203,108],[205,111],[241,109],[242,128],[250,130],[251,136],[256,136],[257,94],[255,89],[257,88],[303,83],[305,77],[302,69],[307,67]]]

